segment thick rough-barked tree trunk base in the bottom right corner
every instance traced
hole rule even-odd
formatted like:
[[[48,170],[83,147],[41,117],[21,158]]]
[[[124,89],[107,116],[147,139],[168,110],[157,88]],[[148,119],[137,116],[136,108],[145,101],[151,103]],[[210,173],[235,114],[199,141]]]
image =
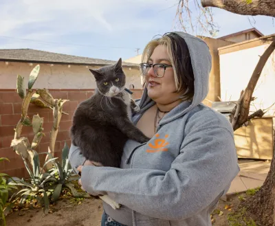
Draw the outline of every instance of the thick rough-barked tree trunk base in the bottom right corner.
[[[275,144],[274,144],[275,147]],[[274,150],[275,152],[275,150]],[[274,226],[275,225],[275,158],[273,156],[270,172],[267,174],[265,183],[254,196],[245,200],[243,205],[248,212],[253,214],[257,225]]]

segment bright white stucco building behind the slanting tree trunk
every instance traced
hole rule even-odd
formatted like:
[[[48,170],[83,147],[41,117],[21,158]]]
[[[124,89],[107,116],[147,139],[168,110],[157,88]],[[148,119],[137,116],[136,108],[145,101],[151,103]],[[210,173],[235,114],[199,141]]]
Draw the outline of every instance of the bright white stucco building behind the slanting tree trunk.
[[[259,57],[275,40],[275,34],[220,47],[221,100],[238,100],[247,86]],[[256,98],[251,111],[267,109],[265,115],[275,113],[275,52],[268,58],[257,82],[253,96]]]

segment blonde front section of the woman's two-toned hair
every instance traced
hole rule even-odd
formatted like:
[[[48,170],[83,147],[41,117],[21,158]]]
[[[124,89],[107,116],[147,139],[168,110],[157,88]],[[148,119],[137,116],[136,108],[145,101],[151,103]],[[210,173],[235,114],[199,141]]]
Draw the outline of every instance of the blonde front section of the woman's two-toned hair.
[[[175,41],[171,39],[171,36],[164,34],[164,36],[150,41],[146,45],[142,53],[142,63],[148,63],[149,58],[151,57],[151,55],[155,50],[155,47],[157,47],[158,45],[163,45],[167,49],[168,58],[174,70],[174,79],[175,79],[175,86],[176,86],[177,92],[179,93],[181,91],[185,91],[184,95],[182,95],[180,98],[183,100],[188,100],[192,98],[194,93],[188,93],[188,86],[186,86],[186,82],[184,82],[184,76],[181,75],[184,72],[179,70],[179,66],[178,66],[179,63],[176,63],[176,60],[182,57],[182,56],[177,56],[176,54],[180,49],[177,49],[177,43],[175,43]],[[182,63],[184,63],[184,61],[182,61],[180,64]]]

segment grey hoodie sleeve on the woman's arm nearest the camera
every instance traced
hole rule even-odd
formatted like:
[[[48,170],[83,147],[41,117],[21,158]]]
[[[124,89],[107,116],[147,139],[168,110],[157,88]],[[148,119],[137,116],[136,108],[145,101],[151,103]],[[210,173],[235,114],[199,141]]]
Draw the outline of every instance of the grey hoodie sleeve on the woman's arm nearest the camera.
[[[84,166],[83,188],[155,218],[189,218],[226,192],[239,172],[232,133],[208,127],[184,138],[168,172]]]

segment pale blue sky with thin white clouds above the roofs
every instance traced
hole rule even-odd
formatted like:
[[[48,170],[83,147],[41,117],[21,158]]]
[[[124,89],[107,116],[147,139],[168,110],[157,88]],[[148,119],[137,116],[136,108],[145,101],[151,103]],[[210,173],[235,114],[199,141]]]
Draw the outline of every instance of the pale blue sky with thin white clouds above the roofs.
[[[192,0],[190,0],[192,1]],[[107,60],[142,53],[157,35],[182,31],[177,0],[0,0],[0,49],[39,49]],[[191,6],[192,15],[196,16]],[[256,27],[275,33],[267,16],[213,9],[217,37]],[[195,18],[195,17],[194,17]],[[186,21],[187,23],[187,21]],[[209,35],[208,35],[209,36]]]

